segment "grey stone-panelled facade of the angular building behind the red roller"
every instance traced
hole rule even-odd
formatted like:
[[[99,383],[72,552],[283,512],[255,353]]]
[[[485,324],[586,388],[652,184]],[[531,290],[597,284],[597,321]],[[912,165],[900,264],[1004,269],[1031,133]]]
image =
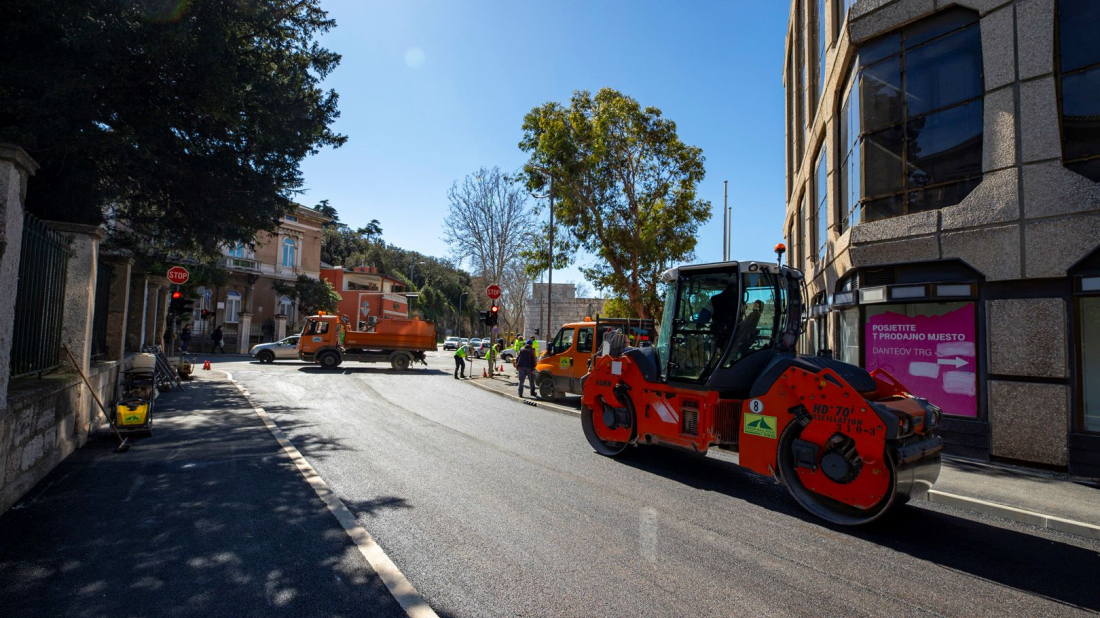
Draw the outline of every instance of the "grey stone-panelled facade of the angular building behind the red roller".
[[[825,2],[824,93],[816,104],[817,0],[790,4],[784,230],[794,232],[788,246],[793,265],[806,274],[810,297],[825,299],[815,327],[826,334],[804,342],[804,351],[842,349],[845,312],[856,312],[865,328],[869,306],[860,291],[868,288],[881,287],[882,301],[893,302],[895,286],[926,286],[925,297],[906,301],[912,306],[942,302],[937,283],[972,285],[956,300],[976,307],[978,409],[974,418],[945,422],[948,451],[1100,475],[1100,433],[1086,431],[1081,416],[1082,380],[1090,377],[1079,371],[1075,327],[1082,319],[1078,278],[1100,275],[1089,266],[1100,262],[1100,183],[1062,162],[1056,0],[858,0],[844,15],[847,3]],[[960,8],[972,11],[980,31],[977,186],[950,206],[848,228],[840,212],[850,207],[840,196],[847,174],[842,133],[848,130],[842,112],[860,45]],[[822,148],[827,251],[817,260],[816,251],[794,247],[816,249],[813,198]],[[862,363],[862,339],[858,349],[853,361]],[[1037,411],[1038,396],[1053,402]]]

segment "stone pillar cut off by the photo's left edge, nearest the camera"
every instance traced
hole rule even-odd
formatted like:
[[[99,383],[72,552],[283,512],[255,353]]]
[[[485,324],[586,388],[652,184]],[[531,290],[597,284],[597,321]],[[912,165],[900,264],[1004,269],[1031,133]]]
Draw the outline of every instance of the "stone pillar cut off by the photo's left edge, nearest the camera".
[[[23,244],[23,200],[26,197],[26,179],[37,169],[37,164],[22,148],[0,144],[0,289],[7,290],[0,295],[0,415],[8,409],[15,284],[19,279],[19,252]]]

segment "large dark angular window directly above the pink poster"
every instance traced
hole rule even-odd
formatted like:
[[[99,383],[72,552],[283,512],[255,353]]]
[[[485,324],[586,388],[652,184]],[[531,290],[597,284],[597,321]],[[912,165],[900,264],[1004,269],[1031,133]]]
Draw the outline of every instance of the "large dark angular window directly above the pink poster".
[[[849,224],[954,206],[978,186],[981,63],[978,14],[966,9],[860,46],[842,112]]]

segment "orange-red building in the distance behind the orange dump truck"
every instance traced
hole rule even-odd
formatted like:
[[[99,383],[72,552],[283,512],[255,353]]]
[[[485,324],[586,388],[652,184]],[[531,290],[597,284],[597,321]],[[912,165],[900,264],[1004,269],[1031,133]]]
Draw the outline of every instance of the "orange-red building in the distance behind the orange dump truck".
[[[373,320],[409,317],[405,282],[374,266],[321,268],[321,278],[340,294],[339,311],[348,316],[353,329],[362,330]]]

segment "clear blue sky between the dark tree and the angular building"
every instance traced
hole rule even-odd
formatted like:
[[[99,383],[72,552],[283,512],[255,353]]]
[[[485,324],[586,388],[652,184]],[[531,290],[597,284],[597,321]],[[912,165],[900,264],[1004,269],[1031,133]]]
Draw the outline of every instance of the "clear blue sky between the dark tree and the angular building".
[[[447,189],[480,166],[518,169],[522,118],[574,90],[616,88],[660,108],[703,148],[700,195],[714,214],[697,262],[722,255],[723,180],[733,257],[769,260],[782,240],[783,40],[788,3],[330,0],[322,38],[343,55],[326,86],[349,136],[302,164],[308,192],[352,227],[371,219],[398,246],[448,254]],[[586,258],[587,260],[587,258]],[[580,282],[575,267],[559,282]]]

